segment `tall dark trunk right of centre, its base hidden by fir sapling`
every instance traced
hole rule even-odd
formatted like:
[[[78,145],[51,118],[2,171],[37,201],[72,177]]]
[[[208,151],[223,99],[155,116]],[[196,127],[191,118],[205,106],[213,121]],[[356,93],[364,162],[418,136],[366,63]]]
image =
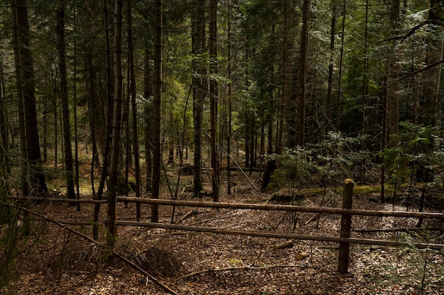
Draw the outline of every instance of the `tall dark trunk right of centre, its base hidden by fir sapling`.
[[[307,54],[309,48],[309,17],[311,0],[304,0],[302,7],[302,30],[301,30],[301,69],[299,70],[299,125],[298,145],[305,145],[305,100],[306,100],[306,77],[307,77]]]

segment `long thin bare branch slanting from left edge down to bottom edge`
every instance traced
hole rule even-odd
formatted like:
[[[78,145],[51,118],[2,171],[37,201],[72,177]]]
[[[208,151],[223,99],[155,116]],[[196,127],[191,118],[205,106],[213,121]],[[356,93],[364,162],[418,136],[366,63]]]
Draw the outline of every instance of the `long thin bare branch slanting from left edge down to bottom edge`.
[[[65,224],[62,224],[60,221],[57,221],[55,219],[52,219],[48,216],[45,216],[43,214],[39,214],[37,212],[33,212],[30,209],[26,209],[24,207],[20,207],[20,206],[16,206],[13,204],[8,204],[5,202],[0,202],[0,204],[3,204],[4,206],[8,206],[8,207],[12,207],[12,208],[16,208],[19,210],[22,210],[24,212],[28,212],[29,214],[33,214],[34,216],[38,216],[42,219],[45,219],[46,221],[50,221],[53,224],[57,224],[57,226],[62,227],[63,229],[66,229],[67,231],[70,231],[71,233],[76,234],[77,236],[81,236],[82,238],[86,239],[87,241],[94,243],[96,245],[99,245],[101,248],[106,249],[107,251],[109,251],[109,253],[111,253],[115,258],[118,258],[120,260],[122,260],[123,262],[126,262],[126,264],[130,265],[131,267],[133,267],[133,269],[138,270],[138,272],[141,272],[142,274],[145,274],[146,277],[148,277],[152,282],[154,282],[155,284],[157,284],[157,286],[161,287],[162,289],[164,289],[165,291],[167,291],[167,293],[172,294],[172,295],[179,295],[177,294],[175,291],[173,291],[172,289],[170,289],[169,287],[167,287],[165,284],[163,284],[162,282],[160,282],[158,279],[156,279],[155,277],[153,277],[151,274],[149,274],[148,272],[146,272],[145,270],[143,270],[141,267],[139,267],[138,265],[135,265],[134,262],[131,262],[131,260],[128,260],[128,258],[125,258],[123,255],[118,254],[116,251],[110,249],[107,245],[104,245],[102,243],[99,243],[97,241],[94,241],[94,239],[89,238],[89,236],[84,235],[83,233],[80,233],[79,231],[76,231],[75,229],[71,229],[69,226],[66,226]]]

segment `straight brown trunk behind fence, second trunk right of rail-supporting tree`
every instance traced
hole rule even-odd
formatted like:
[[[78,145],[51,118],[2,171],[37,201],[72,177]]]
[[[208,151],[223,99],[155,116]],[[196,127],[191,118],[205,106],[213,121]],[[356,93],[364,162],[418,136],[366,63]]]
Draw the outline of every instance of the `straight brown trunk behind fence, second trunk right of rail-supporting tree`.
[[[153,105],[153,156],[152,156],[152,198],[158,199],[160,192],[160,174],[162,151],[160,149],[160,111],[162,108],[162,0],[154,3],[154,105]],[[151,222],[159,222],[159,207],[151,205]]]

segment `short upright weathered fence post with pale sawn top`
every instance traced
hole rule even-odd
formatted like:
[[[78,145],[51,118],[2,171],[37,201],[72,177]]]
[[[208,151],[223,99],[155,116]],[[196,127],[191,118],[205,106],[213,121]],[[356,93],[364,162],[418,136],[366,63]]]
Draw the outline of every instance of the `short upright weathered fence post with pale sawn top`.
[[[344,180],[343,192],[343,209],[352,209],[353,207],[353,179],[347,178]],[[350,238],[350,229],[352,226],[351,214],[342,214],[340,219],[340,237]],[[350,243],[339,243],[339,261],[338,272],[340,274],[348,273],[348,253],[350,250]]]

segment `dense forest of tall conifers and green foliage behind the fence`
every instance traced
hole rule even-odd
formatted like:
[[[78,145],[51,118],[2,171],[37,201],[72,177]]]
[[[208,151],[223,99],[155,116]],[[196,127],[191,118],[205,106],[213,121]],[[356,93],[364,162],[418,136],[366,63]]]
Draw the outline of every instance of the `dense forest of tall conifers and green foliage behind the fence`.
[[[238,170],[263,192],[353,178],[382,203],[406,184],[442,197],[444,1],[6,2],[1,202],[106,199],[112,247],[117,195],[177,199],[180,175],[213,202]]]

